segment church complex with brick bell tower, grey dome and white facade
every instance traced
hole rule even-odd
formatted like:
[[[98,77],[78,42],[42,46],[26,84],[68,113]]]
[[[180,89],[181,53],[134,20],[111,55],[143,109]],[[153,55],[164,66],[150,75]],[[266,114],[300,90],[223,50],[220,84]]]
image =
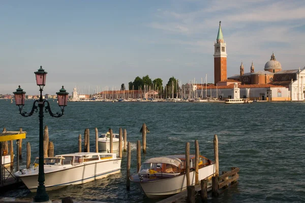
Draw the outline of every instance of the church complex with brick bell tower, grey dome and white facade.
[[[281,63],[272,53],[263,70],[255,71],[252,62],[250,72],[245,73],[245,67],[241,62],[239,74],[227,78],[227,47],[223,38],[221,21],[214,47],[214,82],[216,86],[210,87],[210,95],[215,92],[220,99],[232,97],[232,81],[235,81],[240,88],[240,98],[265,101],[305,100],[305,67],[283,70]],[[212,91],[212,89],[216,90]]]

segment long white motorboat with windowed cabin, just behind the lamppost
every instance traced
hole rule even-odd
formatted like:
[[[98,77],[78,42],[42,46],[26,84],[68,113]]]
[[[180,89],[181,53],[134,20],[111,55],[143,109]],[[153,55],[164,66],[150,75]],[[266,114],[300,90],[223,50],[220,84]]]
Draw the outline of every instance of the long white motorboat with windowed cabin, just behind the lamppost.
[[[39,158],[33,166],[14,173],[35,192],[38,187]],[[67,185],[83,184],[120,172],[121,158],[109,153],[73,153],[44,158],[46,190]]]

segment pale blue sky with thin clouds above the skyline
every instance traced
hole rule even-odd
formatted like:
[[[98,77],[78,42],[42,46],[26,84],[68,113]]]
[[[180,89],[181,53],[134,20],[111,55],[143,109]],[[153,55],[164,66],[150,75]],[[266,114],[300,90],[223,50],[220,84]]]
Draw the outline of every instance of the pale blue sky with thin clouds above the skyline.
[[[227,76],[272,52],[283,70],[305,66],[305,1],[0,1],[0,94],[18,85],[38,95],[34,72],[48,72],[44,94],[118,90],[137,76],[214,83],[219,21]]]

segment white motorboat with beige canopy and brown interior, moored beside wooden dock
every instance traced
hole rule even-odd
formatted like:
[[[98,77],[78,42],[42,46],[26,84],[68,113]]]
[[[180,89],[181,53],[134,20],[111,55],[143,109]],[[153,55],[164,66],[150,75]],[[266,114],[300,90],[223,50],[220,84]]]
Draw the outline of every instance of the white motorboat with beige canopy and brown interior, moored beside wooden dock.
[[[187,189],[185,155],[156,157],[146,160],[137,174],[130,176],[148,198],[163,198]],[[195,155],[190,155],[190,183],[195,185]],[[210,178],[215,163],[200,156],[198,179]]]

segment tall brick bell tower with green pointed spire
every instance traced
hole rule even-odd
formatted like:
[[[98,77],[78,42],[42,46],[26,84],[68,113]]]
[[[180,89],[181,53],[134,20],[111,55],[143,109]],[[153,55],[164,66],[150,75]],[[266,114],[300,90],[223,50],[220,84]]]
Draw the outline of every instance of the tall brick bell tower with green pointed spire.
[[[214,83],[227,79],[227,48],[221,31],[221,21],[216,42],[214,44]]]

